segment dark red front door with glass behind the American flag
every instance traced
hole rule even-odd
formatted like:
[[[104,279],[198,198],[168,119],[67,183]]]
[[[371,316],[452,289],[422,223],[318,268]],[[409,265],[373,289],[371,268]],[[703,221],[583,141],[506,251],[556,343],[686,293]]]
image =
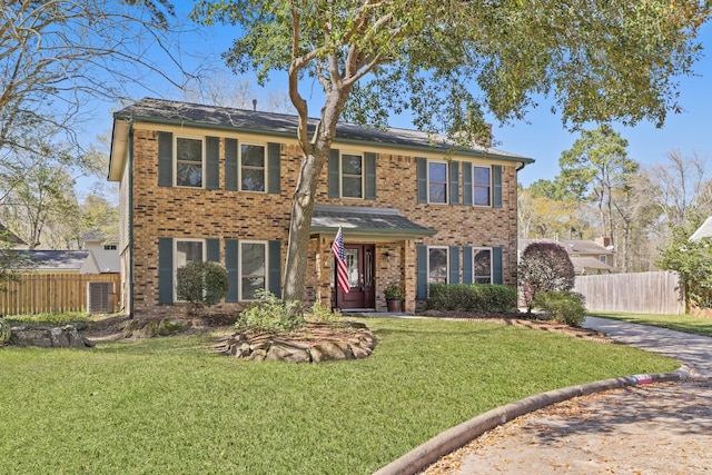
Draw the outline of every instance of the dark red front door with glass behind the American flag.
[[[348,294],[344,294],[336,285],[335,276],[332,276],[332,283],[334,283],[334,298],[332,301],[334,301],[335,307],[342,309],[376,307],[376,293],[374,291],[375,250],[376,247],[373,244],[344,245],[344,257],[348,268],[350,290]],[[335,266],[336,263],[332,267],[335,268]]]

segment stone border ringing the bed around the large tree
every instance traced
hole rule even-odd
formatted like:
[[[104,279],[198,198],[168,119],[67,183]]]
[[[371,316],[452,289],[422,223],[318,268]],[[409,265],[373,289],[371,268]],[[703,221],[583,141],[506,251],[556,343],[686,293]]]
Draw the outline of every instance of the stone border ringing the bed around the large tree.
[[[256,362],[322,363],[363,359],[376,347],[376,336],[364,324],[309,323],[285,334],[240,330],[220,340],[217,353]]]

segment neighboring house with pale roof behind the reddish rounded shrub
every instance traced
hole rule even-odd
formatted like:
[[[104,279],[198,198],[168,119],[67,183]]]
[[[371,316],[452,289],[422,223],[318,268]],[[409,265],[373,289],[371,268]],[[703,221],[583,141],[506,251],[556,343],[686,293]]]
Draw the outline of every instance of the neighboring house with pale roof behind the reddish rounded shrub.
[[[615,251],[607,238],[595,241],[584,239],[520,239],[520,255],[531,243],[555,243],[566,249],[577,276],[612,274],[615,271]]]

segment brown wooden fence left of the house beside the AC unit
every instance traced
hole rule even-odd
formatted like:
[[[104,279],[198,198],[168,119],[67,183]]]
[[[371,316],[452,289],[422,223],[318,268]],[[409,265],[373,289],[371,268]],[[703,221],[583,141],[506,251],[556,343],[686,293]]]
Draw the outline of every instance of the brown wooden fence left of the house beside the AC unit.
[[[120,274],[22,274],[0,291],[0,314],[87,311],[89,283],[113,283],[113,309],[119,304]]]

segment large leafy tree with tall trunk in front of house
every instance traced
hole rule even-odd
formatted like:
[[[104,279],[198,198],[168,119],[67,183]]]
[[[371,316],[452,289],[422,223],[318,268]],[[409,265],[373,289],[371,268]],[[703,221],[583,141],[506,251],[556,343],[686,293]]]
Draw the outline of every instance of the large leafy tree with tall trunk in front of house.
[[[662,125],[676,80],[701,52],[710,7],[698,0],[199,0],[192,18],[236,26],[225,60],[260,81],[286,73],[304,159],[294,195],[285,298],[303,299],[309,224],[339,119],[415,126],[459,146],[486,135],[484,113],[521,118],[540,96],[567,126]],[[317,81],[320,121],[307,129]]]

